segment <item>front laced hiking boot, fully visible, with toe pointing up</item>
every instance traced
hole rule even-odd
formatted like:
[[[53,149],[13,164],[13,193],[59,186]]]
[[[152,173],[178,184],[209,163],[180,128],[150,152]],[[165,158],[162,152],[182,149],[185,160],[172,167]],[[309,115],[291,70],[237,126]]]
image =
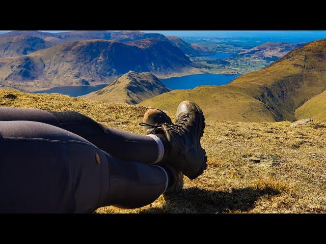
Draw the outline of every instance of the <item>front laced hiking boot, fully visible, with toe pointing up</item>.
[[[179,104],[175,124],[165,123],[159,128],[169,144],[165,160],[189,179],[197,178],[207,167],[206,152],[200,144],[204,128],[203,112],[191,101]]]

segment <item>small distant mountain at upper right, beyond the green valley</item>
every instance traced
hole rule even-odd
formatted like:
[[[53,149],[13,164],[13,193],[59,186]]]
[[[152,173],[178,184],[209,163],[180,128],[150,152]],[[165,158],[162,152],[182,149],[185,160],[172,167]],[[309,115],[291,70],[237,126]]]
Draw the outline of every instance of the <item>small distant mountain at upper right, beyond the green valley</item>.
[[[301,47],[304,43],[278,43],[266,42],[262,45],[239,52],[239,56],[252,56],[265,60],[274,61],[284,56],[295,48]]]

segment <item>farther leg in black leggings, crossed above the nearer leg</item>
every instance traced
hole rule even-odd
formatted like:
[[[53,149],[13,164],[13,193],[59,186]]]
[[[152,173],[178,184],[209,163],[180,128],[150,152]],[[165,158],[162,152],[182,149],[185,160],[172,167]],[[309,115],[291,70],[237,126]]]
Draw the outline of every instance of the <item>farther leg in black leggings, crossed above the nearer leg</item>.
[[[26,108],[0,108],[0,121],[28,120],[53,125],[79,135],[98,148],[122,160],[154,164],[162,150],[155,139],[100,125],[78,112],[52,112]]]

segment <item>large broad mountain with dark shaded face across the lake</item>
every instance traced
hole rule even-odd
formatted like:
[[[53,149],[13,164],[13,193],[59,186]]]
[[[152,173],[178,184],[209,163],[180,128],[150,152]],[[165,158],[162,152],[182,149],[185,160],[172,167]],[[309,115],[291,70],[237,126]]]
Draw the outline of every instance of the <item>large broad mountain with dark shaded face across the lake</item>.
[[[21,57],[0,58],[0,84],[25,90],[101,84],[130,70],[167,77],[192,72],[194,67],[169,41],[72,41]]]

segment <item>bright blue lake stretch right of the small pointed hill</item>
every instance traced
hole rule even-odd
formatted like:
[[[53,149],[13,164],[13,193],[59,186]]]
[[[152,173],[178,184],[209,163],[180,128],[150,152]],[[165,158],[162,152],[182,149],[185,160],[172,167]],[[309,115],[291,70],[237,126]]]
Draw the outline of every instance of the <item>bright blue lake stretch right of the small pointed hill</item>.
[[[160,81],[172,90],[193,89],[200,85],[225,85],[239,75],[196,74],[161,79]]]

